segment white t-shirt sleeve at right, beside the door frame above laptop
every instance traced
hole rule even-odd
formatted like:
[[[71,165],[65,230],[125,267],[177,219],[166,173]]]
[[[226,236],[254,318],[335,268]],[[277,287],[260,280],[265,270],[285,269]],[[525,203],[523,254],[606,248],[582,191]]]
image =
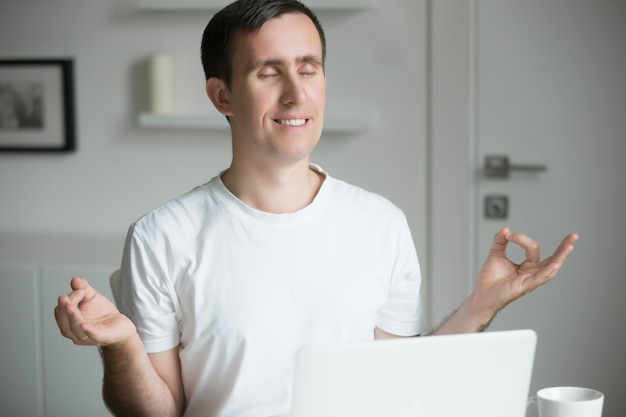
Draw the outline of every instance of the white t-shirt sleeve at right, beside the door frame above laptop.
[[[376,326],[397,336],[415,336],[425,330],[422,313],[419,260],[404,219],[393,247],[392,276],[387,300],[378,312]]]

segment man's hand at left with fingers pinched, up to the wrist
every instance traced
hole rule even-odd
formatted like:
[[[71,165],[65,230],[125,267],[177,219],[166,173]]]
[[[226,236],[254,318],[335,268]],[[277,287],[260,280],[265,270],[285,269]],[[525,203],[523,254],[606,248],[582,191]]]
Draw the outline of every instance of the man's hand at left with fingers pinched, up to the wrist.
[[[136,337],[135,325],[83,277],[70,282],[72,292],[61,295],[54,317],[61,334],[76,345],[113,346]]]

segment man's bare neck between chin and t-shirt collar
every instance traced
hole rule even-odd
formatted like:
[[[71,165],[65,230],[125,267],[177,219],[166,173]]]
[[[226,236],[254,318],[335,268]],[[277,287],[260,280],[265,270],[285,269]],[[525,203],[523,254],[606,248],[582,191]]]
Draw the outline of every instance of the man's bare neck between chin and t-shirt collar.
[[[222,174],[226,188],[248,206],[267,213],[293,213],[311,204],[324,181],[308,160],[272,169],[231,164]]]

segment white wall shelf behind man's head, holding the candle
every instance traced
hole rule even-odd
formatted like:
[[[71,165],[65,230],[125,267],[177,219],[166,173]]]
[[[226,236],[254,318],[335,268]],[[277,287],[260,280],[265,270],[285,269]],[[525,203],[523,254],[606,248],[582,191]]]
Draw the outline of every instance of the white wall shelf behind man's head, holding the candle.
[[[325,133],[358,133],[375,127],[378,117],[376,108],[369,103],[345,104],[341,107],[326,107],[324,120]],[[341,109],[341,110],[339,110]],[[171,113],[155,114],[140,113],[140,127],[153,129],[200,129],[229,130],[226,118],[221,114]]]

